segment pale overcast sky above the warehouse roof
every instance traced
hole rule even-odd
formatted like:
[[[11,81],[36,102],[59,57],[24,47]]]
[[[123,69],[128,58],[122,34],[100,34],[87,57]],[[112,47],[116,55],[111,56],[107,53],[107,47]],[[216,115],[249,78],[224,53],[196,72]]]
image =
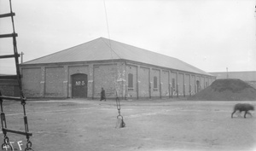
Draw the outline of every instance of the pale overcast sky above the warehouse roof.
[[[206,72],[256,71],[255,0],[105,0],[107,15],[103,0],[12,3],[23,61],[103,37]],[[5,13],[9,1],[0,1]],[[0,34],[11,32],[10,18],[0,19]],[[13,53],[11,38],[0,39],[0,53]],[[0,73],[15,73],[13,64],[2,59]]]

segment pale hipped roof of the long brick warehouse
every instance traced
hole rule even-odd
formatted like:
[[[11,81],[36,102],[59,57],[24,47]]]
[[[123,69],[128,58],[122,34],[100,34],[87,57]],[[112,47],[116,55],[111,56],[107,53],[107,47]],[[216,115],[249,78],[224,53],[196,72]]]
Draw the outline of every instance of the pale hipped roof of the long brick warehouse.
[[[32,61],[26,61],[23,65],[78,61],[106,61],[117,59],[143,62],[154,66],[187,71],[189,73],[211,75],[199,68],[189,65],[186,62],[180,61],[177,58],[160,55],[146,49],[122,44],[107,38],[96,38],[90,42],[79,44],[78,46],[64,49],[51,55],[46,55]]]

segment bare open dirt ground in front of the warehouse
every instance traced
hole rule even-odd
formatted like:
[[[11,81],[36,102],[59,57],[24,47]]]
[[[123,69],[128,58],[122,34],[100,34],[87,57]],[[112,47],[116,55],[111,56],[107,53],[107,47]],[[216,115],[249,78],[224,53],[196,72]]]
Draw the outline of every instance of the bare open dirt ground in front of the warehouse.
[[[231,119],[236,103],[120,101],[126,124],[121,129],[115,128],[116,103],[109,100],[28,101],[26,115],[35,151],[256,150],[256,114]],[[24,131],[20,103],[3,106],[8,128]],[[8,136],[15,150],[26,148],[25,136]]]

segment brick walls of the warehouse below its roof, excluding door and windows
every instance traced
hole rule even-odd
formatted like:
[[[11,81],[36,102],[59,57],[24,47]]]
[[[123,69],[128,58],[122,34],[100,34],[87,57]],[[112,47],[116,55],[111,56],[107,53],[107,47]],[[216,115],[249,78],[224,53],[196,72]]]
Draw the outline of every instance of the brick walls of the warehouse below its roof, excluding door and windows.
[[[94,63],[76,63],[65,65],[47,65],[41,67],[23,67],[22,82],[27,97],[72,97],[72,75],[83,73],[87,75],[87,97],[99,98],[104,88],[108,98],[160,98],[189,96],[189,84],[192,94],[195,94],[196,80],[200,81],[201,90],[206,82],[212,83],[213,78],[183,73],[137,64],[134,62],[98,61]],[[131,88],[128,88],[128,75],[132,74]],[[154,78],[156,81],[154,81]],[[172,78],[175,81],[172,89]],[[156,82],[154,87],[154,82]],[[185,87],[183,87],[185,84]]]

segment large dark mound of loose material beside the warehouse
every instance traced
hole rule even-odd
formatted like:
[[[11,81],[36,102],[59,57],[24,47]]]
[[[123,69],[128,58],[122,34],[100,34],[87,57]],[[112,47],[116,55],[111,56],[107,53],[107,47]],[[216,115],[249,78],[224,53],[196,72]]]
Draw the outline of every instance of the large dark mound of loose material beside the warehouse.
[[[256,101],[256,90],[240,79],[217,79],[209,87],[188,98],[201,101]]]

